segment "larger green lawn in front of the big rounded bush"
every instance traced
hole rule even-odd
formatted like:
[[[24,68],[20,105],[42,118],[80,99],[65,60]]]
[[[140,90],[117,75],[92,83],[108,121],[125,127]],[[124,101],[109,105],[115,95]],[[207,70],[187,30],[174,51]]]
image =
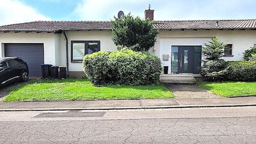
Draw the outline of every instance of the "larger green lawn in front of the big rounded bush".
[[[97,87],[86,79],[40,79],[10,91],[4,102],[22,100],[162,99],[173,97],[165,86]]]

